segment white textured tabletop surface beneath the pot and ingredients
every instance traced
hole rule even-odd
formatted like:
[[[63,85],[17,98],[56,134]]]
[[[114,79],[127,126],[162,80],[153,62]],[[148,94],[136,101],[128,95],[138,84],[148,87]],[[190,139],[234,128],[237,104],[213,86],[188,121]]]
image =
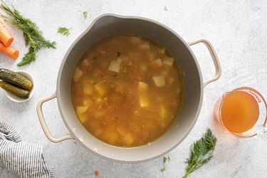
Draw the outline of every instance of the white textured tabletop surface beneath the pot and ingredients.
[[[13,126],[24,141],[43,145],[44,155],[55,169],[56,177],[182,177],[189,145],[211,127],[218,138],[214,159],[193,172],[190,177],[266,177],[267,140],[238,139],[226,133],[213,118],[216,99],[225,91],[250,86],[267,97],[267,2],[261,1],[12,1],[23,16],[36,22],[46,38],[56,41],[58,48],[38,52],[37,61],[18,68],[16,63],[26,53],[21,31],[9,26],[15,40],[12,46],[21,55],[17,61],[0,54],[0,67],[27,70],[36,79],[36,92],[26,103],[13,103],[0,90],[0,120]],[[9,2],[8,2],[9,3]],[[167,11],[164,10],[167,7]],[[83,11],[88,18],[83,19]],[[185,41],[207,38],[221,60],[221,78],[204,90],[204,103],[194,129],[179,147],[170,152],[166,170],[160,172],[162,159],[144,164],[117,164],[105,161],[86,151],[75,141],[49,142],[38,122],[36,104],[56,90],[61,60],[69,46],[100,14],[144,16],[172,28]],[[72,27],[68,37],[57,33],[58,26]],[[211,57],[203,45],[192,47],[204,76],[214,74]],[[66,135],[56,100],[43,108],[53,135]],[[0,177],[11,177],[0,165]]]

